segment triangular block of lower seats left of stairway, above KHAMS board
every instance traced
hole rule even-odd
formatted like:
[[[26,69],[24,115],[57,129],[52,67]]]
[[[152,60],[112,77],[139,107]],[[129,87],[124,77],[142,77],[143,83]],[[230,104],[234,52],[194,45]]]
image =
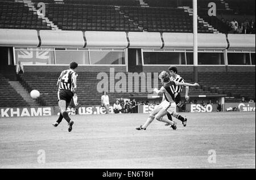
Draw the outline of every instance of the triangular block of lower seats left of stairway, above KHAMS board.
[[[0,74],[0,84],[0,107],[30,106],[22,96],[11,87],[8,80],[2,74]]]

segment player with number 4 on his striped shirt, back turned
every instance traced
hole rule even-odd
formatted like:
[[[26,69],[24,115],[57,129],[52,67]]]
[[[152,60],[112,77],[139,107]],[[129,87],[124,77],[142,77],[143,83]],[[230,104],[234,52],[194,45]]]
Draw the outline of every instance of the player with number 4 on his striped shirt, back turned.
[[[60,116],[59,119],[53,126],[57,127],[59,123],[64,118],[68,122],[68,131],[72,131],[73,121],[69,118],[67,113],[68,105],[70,104],[74,93],[76,92],[76,70],[77,70],[77,63],[71,62],[69,64],[69,69],[64,70],[61,72],[60,77],[57,81],[57,86],[59,86],[59,91],[57,93],[58,96],[58,105],[60,108]]]

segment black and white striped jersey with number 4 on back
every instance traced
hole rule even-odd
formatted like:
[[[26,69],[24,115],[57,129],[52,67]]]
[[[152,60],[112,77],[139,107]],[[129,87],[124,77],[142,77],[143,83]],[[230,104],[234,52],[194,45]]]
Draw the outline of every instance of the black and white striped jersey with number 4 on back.
[[[77,76],[77,73],[73,70],[62,71],[58,79],[60,81],[59,90],[65,89],[72,91],[73,88],[76,88],[73,80],[76,79]]]

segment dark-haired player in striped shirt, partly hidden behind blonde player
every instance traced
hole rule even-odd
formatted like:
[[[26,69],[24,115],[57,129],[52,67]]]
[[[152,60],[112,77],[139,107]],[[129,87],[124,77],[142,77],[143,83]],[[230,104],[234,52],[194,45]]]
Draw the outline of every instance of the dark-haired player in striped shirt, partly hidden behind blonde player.
[[[177,67],[175,66],[170,66],[168,68],[169,72],[170,72],[170,79],[174,82],[180,82],[180,83],[185,83],[184,79],[181,78],[180,75],[177,74]],[[175,92],[177,92],[177,96],[175,97],[175,102],[177,106],[181,105],[181,96],[180,93],[182,91],[183,86],[182,85],[177,85],[175,88]],[[186,92],[185,92],[185,99],[189,100],[189,96],[188,96],[188,91],[189,91],[189,87],[185,86],[186,88]],[[167,114],[168,119],[170,119],[172,121],[172,116],[170,114]],[[187,121],[183,121],[182,122],[183,126],[187,126]],[[170,124],[166,123],[166,126],[169,126]]]

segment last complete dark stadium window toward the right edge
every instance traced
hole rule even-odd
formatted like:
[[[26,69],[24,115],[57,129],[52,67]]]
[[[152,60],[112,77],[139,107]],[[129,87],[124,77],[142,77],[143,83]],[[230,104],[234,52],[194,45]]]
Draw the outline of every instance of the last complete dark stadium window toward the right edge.
[[[229,65],[251,65],[250,53],[228,53]]]

